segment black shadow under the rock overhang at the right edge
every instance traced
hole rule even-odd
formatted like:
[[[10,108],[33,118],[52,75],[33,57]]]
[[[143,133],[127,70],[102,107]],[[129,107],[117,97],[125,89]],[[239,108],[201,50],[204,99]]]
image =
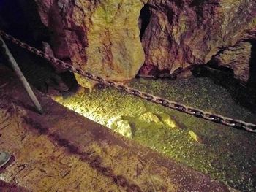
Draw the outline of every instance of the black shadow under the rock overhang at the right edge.
[[[211,78],[214,83],[227,89],[236,103],[246,107],[251,112],[256,113],[256,68],[255,64],[252,64],[254,63],[254,59],[255,55],[252,53],[250,78],[246,85],[242,84],[240,80],[236,80],[234,78],[232,69],[217,66],[214,59],[205,66],[196,66],[192,70],[192,73],[195,77]],[[252,67],[252,65],[254,66]]]

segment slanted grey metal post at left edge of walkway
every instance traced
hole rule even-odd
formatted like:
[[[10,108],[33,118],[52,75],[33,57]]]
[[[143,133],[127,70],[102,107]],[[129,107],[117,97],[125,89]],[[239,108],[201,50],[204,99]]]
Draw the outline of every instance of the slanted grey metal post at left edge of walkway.
[[[29,85],[29,82],[24,77],[23,73],[20,70],[20,67],[15,61],[15,58],[13,58],[12,53],[10,53],[10,50],[8,49],[7,45],[4,42],[4,39],[2,39],[1,36],[0,36],[0,45],[1,45],[1,48],[4,50],[4,54],[7,55],[7,58],[10,61],[10,64],[12,65],[12,69],[15,71],[19,80],[22,82],[24,88],[26,89],[26,92],[29,94],[31,101],[33,101],[34,105],[37,107],[37,111],[42,113],[41,104],[39,104],[37,97],[34,95],[34,92],[32,91]]]

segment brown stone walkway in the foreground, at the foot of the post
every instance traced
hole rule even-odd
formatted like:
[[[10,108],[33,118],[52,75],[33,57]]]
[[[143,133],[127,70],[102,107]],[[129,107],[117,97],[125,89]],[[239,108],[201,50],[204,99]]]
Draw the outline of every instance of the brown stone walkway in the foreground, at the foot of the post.
[[[0,67],[1,191],[229,191],[188,166],[115,134],[36,91],[44,114]],[[7,85],[5,85],[5,83]]]

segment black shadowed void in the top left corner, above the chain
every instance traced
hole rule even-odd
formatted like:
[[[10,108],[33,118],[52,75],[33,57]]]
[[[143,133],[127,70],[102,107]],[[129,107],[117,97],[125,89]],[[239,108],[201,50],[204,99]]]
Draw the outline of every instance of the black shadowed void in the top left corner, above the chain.
[[[0,28],[8,34],[36,47],[49,42],[49,31],[42,24],[37,5],[27,0],[0,1]]]

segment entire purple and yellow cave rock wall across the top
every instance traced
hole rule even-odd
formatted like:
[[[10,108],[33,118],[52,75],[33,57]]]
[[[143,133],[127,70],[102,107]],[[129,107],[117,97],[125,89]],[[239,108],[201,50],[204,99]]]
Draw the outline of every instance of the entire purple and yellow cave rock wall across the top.
[[[110,80],[130,80],[139,70],[173,74],[211,59],[241,81],[250,78],[256,1],[29,1],[50,31],[57,58]]]

